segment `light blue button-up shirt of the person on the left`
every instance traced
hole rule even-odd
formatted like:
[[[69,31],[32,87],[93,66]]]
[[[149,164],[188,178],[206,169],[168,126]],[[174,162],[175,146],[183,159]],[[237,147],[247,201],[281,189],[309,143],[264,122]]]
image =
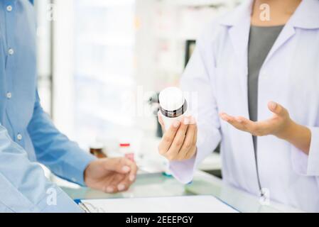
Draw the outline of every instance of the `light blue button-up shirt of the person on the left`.
[[[0,212],[77,212],[38,162],[83,185],[94,157],[61,134],[40,106],[35,18],[28,0],[0,1]]]

